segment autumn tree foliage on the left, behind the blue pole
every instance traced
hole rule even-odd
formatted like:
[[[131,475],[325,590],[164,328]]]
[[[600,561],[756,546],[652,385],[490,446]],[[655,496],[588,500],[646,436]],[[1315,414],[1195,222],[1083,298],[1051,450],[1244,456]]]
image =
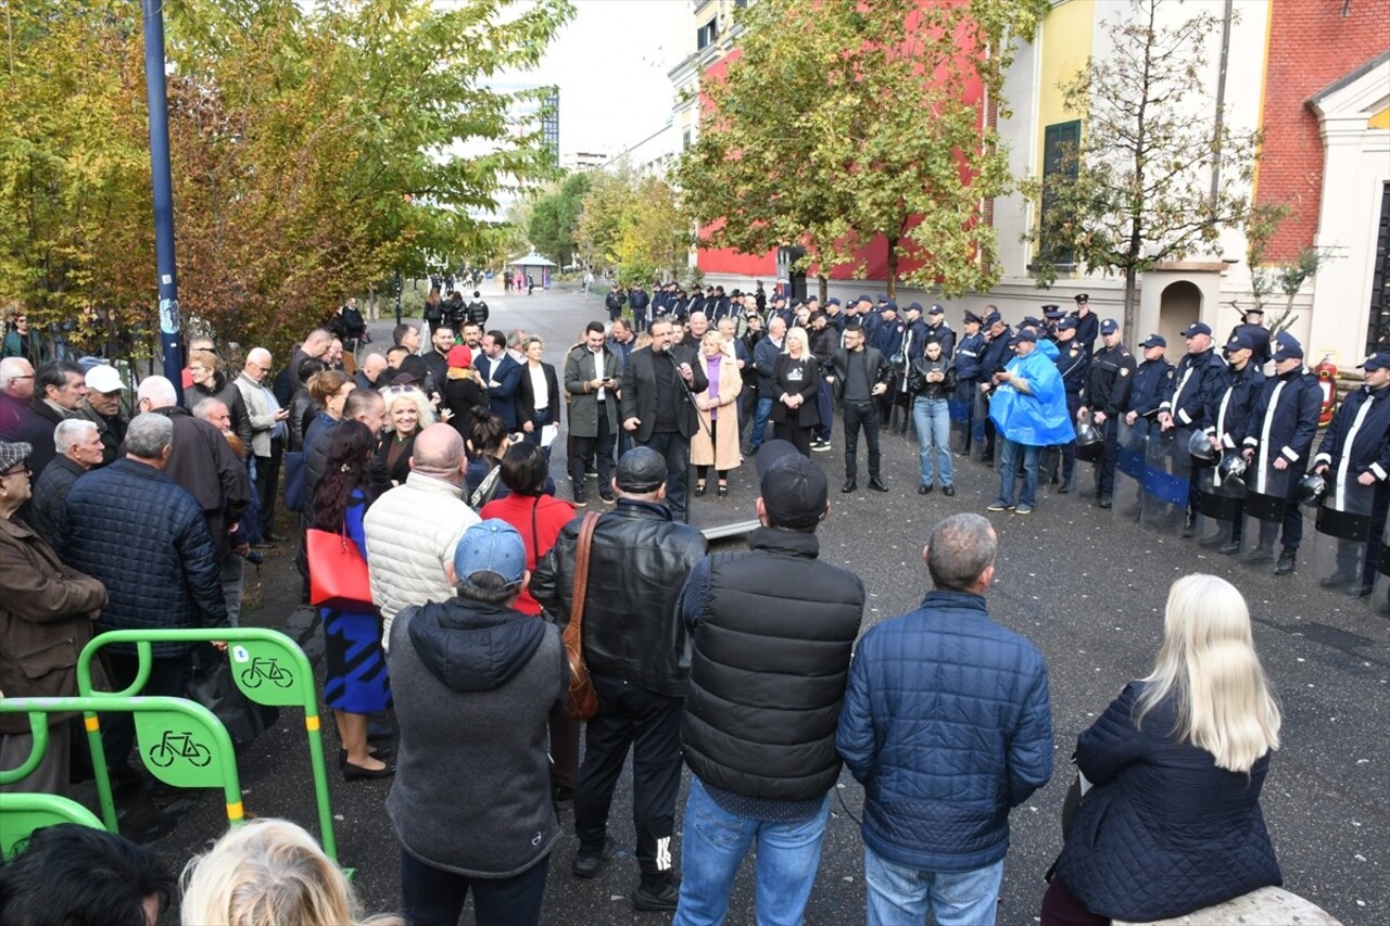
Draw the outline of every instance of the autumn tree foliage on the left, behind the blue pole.
[[[488,81],[539,61],[566,0],[164,11],[179,296],[222,338],[282,346],[396,268],[495,250],[467,210],[550,170]],[[125,356],[154,311],[139,14],[10,4],[0,74],[0,302]]]

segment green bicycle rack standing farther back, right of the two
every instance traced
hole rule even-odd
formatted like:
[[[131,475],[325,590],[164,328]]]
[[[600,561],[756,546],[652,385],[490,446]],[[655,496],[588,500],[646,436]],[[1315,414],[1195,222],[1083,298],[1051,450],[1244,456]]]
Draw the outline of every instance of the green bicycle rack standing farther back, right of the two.
[[[206,627],[197,630],[113,630],[96,635],[78,658],[78,691],[93,697],[111,697],[92,690],[92,659],[101,647],[110,644],[135,644],[140,666],[135,681],[125,691],[114,695],[129,697],[150,677],[154,642],[208,642],[227,641],[227,655],[232,663],[232,677],[249,699],[275,708],[304,709],[304,729],[309,731],[309,761],[314,773],[314,795],[318,801],[318,826],[322,830],[324,852],[338,861],[338,843],[334,838],[334,813],[328,802],[328,774],[324,769],[324,742],[318,722],[318,695],[314,691],[314,672],[309,658],[299,645],[279,633],[264,627]],[[111,799],[111,781],[106,772],[106,754],[101,751],[101,730],[95,712],[88,712],[88,742],[92,744],[92,766],[96,772],[97,794],[101,809],[107,812],[107,827],[115,831],[115,804]],[[136,715],[139,717],[139,715]],[[221,724],[218,724],[221,726]],[[224,731],[225,733],[225,731]],[[154,741],[160,731],[150,731]],[[140,731],[145,744],[145,731]],[[179,747],[174,747],[175,749]],[[160,758],[167,758],[161,752]]]

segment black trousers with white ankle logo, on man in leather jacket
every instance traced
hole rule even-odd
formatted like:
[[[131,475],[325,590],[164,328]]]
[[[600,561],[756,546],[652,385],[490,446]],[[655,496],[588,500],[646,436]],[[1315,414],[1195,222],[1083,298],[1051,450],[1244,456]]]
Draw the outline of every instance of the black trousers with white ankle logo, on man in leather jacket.
[[[632,751],[632,826],[642,883],[670,882],[676,793],[681,784],[682,698],[667,698],[595,673],[599,712],[584,733],[584,763],[574,791],[580,851],[598,852],[607,836],[613,790]]]

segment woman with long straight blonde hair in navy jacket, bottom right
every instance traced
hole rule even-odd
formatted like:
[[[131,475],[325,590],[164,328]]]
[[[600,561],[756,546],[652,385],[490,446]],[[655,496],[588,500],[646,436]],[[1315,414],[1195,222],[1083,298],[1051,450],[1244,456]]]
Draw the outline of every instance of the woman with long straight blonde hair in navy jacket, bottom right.
[[[1151,922],[1282,884],[1259,812],[1279,706],[1240,592],[1184,576],[1154,670],[1077,738],[1091,783],[1042,898],[1042,926]]]

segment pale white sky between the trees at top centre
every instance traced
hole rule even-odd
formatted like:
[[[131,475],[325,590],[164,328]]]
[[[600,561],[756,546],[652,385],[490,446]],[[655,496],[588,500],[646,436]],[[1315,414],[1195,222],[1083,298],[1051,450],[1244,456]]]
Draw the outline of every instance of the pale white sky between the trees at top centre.
[[[685,35],[689,3],[571,1],[574,19],[527,78],[560,88],[562,154],[616,154],[656,132],[671,114],[674,90],[667,72],[695,44],[694,35]]]

